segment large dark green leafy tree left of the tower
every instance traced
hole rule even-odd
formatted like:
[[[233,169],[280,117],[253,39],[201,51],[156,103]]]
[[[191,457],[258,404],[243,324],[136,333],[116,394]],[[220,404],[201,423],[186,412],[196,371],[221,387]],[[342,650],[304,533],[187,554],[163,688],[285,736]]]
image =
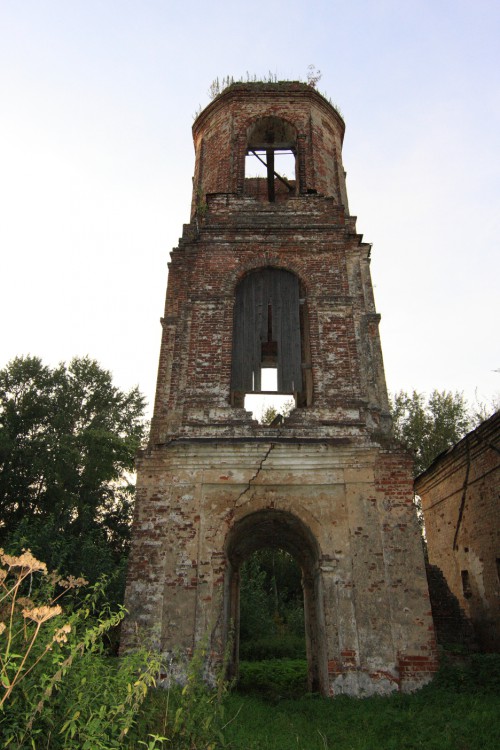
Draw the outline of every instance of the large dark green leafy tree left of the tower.
[[[88,357],[0,370],[0,545],[91,581],[123,567],[143,414]]]

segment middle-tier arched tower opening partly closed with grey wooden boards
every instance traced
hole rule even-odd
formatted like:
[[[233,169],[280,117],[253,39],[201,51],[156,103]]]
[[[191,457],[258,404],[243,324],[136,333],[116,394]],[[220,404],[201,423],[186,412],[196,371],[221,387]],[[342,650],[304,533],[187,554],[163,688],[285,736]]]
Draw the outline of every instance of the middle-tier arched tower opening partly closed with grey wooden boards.
[[[307,307],[299,279],[290,271],[263,268],[236,288],[231,402],[245,396],[292,396],[312,402]]]

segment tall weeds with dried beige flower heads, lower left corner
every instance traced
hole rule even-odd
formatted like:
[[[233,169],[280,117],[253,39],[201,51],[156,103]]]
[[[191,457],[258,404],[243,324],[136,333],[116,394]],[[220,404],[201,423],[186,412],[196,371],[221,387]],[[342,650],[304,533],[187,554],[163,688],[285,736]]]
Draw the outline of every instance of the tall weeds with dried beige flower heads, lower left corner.
[[[48,575],[29,551],[0,550],[0,736],[3,747],[119,748],[155,682],[159,660],[143,647],[110,661],[105,636],[122,608],[103,585],[73,596],[83,579]]]

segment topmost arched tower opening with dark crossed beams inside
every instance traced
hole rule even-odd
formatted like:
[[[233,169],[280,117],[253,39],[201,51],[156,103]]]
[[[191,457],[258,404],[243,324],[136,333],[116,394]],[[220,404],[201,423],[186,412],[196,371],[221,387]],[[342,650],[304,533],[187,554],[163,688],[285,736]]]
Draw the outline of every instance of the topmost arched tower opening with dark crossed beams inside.
[[[245,158],[245,195],[283,201],[296,194],[297,133],[278,117],[263,117],[249,128]]]

